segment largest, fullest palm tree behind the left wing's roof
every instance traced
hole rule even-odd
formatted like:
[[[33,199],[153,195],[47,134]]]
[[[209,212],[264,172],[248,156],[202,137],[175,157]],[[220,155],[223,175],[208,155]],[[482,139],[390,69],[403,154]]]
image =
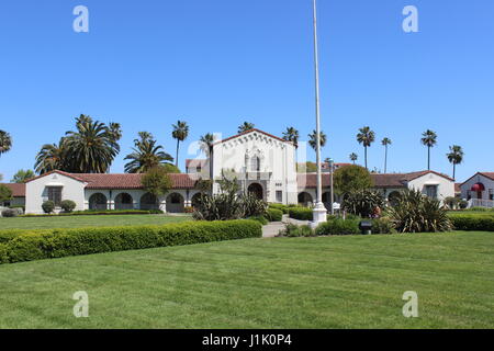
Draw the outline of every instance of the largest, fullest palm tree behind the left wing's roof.
[[[117,131],[86,115],[76,118],[76,128],[77,132],[66,133],[67,156],[75,166],[72,171],[105,173],[120,152]]]

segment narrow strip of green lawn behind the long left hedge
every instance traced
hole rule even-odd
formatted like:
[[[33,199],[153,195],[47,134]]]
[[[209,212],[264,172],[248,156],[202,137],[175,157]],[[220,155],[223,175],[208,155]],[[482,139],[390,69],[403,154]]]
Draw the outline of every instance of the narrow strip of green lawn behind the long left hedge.
[[[105,216],[15,217],[15,218],[0,218],[0,229],[49,229],[49,228],[161,225],[183,220],[191,220],[191,216],[105,215]]]

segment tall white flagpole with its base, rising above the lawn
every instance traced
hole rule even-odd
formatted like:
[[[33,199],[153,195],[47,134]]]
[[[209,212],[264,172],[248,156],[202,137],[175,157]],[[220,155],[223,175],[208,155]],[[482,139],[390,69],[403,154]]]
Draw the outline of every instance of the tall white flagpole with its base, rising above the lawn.
[[[317,44],[317,4],[313,0],[314,13],[314,71],[315,71],[315,104],[316,104],[316,162],[317,162],[317,191],[316,204],[313,214],[313,226],[316,227],[319,223],[326,222],[327,211],[323,204],[323,179],[321,165],[321,109],[319,109],[319,58]]]

